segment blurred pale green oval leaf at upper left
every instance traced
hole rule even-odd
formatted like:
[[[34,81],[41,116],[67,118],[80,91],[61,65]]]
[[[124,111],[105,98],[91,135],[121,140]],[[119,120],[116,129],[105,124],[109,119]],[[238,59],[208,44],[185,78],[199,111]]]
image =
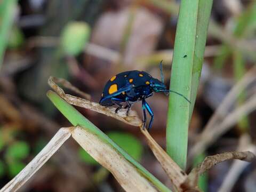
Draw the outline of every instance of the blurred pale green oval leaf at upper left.
[[[62,50],[76,56],[84,50],[90,37],[90,26],[85,22],[71,22],[62,31],[60,44]]]

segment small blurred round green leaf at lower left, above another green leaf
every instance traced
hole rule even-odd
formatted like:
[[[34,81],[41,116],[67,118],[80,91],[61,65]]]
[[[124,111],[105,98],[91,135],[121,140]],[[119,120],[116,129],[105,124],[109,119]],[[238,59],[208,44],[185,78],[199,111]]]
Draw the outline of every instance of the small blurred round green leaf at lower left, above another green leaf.
[[[5,155],[11,161],[26,158],[29,155],[29,145],[25,141],[17,141],[7,148]]]

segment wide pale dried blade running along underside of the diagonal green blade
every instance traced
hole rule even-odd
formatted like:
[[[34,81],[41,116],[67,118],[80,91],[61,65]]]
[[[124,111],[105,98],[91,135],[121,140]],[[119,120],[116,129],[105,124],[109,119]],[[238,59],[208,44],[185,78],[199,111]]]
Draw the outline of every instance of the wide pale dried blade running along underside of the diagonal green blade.
[[[77,126],[72,132],[72,137],[114,175],[125,191],[157,191],[135,166],[97,135]]]

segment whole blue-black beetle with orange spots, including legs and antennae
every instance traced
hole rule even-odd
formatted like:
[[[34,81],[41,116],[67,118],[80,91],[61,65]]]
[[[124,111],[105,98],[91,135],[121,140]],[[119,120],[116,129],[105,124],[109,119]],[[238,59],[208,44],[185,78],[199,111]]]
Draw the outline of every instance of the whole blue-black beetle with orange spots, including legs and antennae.
[[[142,101],[143,128],[146,127],[147,110],[149,115],[151,116],[148,125],[149,130],[153,124],[154,113],[146,102],[146,98],[151,97],[153,95],[153,92],[173,92],[181,95],[181,97],[185,98],[188,102],[190,102],[182,94],[166,89],[166,86],[164,85],[162,61],[159,66],[162,81],[159,81],[158,79],[152,77],[145,71],[138,70],[125,71],[111,77],[103,89],[103,93],[100,99],[100,105],[117,105],[118,107],[115,110],[115,112],[117,113],[118,110],[123,107],[122,103],[126,103],[126,106],[124,108],[127,108],[126,115],[128,115],[132,104],[138,101]]]

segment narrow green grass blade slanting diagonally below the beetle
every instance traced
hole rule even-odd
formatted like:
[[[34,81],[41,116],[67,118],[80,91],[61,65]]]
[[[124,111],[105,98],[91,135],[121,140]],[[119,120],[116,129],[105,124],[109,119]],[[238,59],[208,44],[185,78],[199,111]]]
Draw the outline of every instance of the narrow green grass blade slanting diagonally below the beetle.
[[[147,178],[159,191],[171,191],[162,182],[154,177],[151,173],[149,173],[142,165],[140,165],[137,161],[135,161],[129,154],[127,154],[121,147],[119,147],[114,141],[109,139],[109,137],[103,133],[97,126],[92,124],[87,118],[85,118],[81,113],[79,113],[73,106],[69,105],[65,100],[61,99],[59,95],[57,95],[53,91],[49,91],[47,96],[53,102],[55,107],[57,107],[60,112],[68,119],[68,121],[74,126],[79,125],[82,127],[86,127],[87,130],[98,135],[100,139],[113,146],[120,154],[122,154],[127,161],[131,162],[135,167],[137,167],[138,171]]]

